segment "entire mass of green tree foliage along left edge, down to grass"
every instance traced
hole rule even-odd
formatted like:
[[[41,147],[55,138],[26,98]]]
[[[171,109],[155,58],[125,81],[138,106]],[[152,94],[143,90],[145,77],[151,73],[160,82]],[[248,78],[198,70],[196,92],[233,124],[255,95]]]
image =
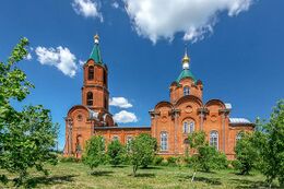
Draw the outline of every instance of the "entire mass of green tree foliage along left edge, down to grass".
[[[57,162],[52,149],[58,127],[51,122],[49,110],[43,106],[28,106],[19,111],[11,105],[11,99],[23,101],[34,87],[16,68],[28,54],[27,45],[28,40],[22,38],[8,61],[0,62],[0,168],[19,175],[14,179],[16,186],[23,184],[28,168],[47,174],[44,163]],[[0,178],[8,180],[5,175]]]

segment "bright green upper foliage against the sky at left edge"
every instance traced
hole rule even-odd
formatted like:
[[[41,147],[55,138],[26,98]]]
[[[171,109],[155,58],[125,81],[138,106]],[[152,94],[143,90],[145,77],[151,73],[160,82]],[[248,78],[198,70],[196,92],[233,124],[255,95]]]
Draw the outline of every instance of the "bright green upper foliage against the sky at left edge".
[[[7,123],[20,119],[17,111],[11,106],[10,101],[23,101],[34,87],[26,81],[26,74],[16,68],[16,63],[27,56],[25,47],[28,45],[27,38],[22,38],[14,47],[7,63],[0,62],[0,131],[3,132]],[[0,140],[3,138],[0,138]],[[2,141],[0,142],[0,144]]]

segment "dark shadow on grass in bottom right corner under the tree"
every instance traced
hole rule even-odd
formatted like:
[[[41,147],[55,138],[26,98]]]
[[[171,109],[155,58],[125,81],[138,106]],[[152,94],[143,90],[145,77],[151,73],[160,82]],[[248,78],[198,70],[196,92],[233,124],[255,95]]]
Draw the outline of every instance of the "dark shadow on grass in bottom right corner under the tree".
[[[265,181],[253,181],[248,179],[237,179],[233,178],[232,181],[235,181],[237,184],[236,188],[269,188],[268,184]],[[280,188],[275,185],[271,186],[272,188]]]

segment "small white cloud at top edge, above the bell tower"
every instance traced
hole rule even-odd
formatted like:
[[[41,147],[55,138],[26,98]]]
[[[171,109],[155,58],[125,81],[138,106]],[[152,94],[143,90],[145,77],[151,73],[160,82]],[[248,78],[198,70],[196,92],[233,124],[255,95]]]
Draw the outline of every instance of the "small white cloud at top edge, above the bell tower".
[[[98,17],[100,22],[104,21],[99,12],[99,2],[97,0],[73,0],[72,7],[79,15],[84,17]]]

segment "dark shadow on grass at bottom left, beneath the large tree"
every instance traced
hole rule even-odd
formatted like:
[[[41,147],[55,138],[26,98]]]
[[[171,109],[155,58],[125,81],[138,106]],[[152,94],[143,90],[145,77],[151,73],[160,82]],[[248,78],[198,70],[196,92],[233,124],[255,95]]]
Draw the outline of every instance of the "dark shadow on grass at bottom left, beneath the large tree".
[[[73,177],[78,175],[64,175],[64,176],[51,176],[51,177],[34,177],[26,181],[27,188],[35,188],[37,185],[56,185],[56,184],[63,184],[73,181]]]

